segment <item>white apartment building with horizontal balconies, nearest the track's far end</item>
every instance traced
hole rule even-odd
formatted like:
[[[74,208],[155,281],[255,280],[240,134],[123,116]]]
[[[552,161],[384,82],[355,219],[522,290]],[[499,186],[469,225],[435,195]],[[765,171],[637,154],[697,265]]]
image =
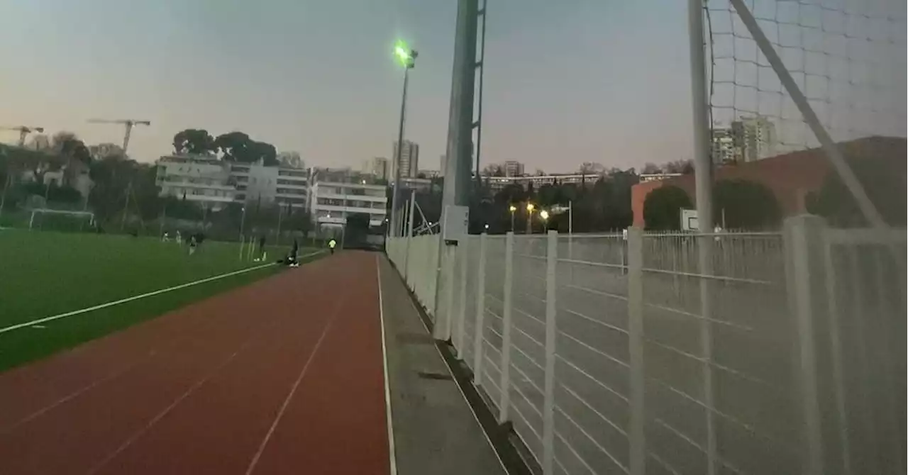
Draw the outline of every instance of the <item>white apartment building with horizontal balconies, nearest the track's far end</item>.
[[[380,184],[315,182],[310,189],[312,221],[321,230],[339,228],[354,213],[369,214],[369,223],[380,226],[388,207],[386,187]]]

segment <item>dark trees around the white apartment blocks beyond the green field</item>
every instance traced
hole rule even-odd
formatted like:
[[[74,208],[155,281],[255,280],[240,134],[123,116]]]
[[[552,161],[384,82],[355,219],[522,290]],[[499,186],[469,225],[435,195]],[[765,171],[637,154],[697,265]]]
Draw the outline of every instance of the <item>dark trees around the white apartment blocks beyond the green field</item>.
[[[225,161],[266,165],[301,164],[299,153],[276,153],[270,143],[231,132],[212,137],[202,129],[187,129],[173,136],[177,154],[214,154]],[[62,185],[47,180],[47,173],[63,171]],[[90,178],[87,200],[77,188],[80,175]],[[105,232],[159,233],[163,228],[195,227],[223,238],[248,233],[308,231],[309,215],[303,207],[273,203],[230,203],[214,212],[185,197],[160,196],[157,169],[139,163],[114,143],[86,145],[75,134],[37,135],[25,148],[0,145],[0,213],[6,222],[27,208],[85,210]],[[18,213],[20,220],[25,213]],[[2,214],[0,214],[2,216]],[[20,223],[21,224],[21,223]]]

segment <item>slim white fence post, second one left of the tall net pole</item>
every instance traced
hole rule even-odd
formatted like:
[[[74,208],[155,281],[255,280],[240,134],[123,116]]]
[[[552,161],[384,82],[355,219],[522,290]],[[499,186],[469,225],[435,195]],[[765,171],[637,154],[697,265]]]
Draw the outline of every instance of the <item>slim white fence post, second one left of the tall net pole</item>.
[[[548,232],[546,252],[546,380],[542,406],[542,473],[555,473],[555,343],[558,336],[558,232]]]

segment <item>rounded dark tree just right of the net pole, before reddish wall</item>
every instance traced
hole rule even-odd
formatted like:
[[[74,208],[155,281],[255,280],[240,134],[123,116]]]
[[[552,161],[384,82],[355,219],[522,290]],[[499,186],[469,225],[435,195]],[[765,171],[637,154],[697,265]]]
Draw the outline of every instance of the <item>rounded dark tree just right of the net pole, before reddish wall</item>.
[[[713,188],[715,223],[736,230],[759,230],[777,227],[782,209],[775,194],[763,183],[747,180],[720,180]]]

